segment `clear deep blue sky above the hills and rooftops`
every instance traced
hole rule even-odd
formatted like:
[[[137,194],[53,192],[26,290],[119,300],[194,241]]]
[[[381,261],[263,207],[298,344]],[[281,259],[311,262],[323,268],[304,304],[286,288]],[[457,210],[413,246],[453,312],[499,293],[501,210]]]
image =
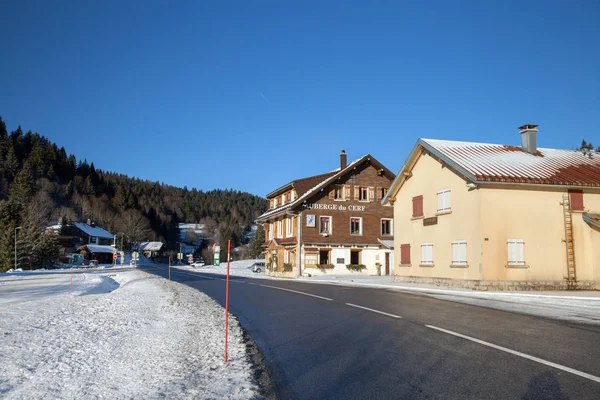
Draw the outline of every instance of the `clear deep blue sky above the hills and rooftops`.
[[[342,149],[397,172],[419,137],[600,145],[600,2],[7,1],[0,116],[97,168],[259,195]]]

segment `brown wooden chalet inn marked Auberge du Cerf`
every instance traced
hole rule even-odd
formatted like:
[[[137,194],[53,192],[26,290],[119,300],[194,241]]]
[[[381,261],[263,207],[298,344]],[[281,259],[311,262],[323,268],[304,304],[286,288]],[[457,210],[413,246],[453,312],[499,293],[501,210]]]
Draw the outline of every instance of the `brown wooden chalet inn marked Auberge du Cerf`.
[[[340,168],[291,181],[267,195],[267,274],[393,274],[393,211],[384,207],[395,175],[367,154]]]

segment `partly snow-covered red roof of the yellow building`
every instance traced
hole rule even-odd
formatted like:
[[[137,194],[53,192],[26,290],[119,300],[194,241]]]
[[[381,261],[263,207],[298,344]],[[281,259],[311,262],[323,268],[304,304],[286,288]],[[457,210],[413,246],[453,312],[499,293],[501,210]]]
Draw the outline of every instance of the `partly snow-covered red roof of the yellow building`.
[[[600,186],[600,153],[419,139],[419,143],[473,181]]]

